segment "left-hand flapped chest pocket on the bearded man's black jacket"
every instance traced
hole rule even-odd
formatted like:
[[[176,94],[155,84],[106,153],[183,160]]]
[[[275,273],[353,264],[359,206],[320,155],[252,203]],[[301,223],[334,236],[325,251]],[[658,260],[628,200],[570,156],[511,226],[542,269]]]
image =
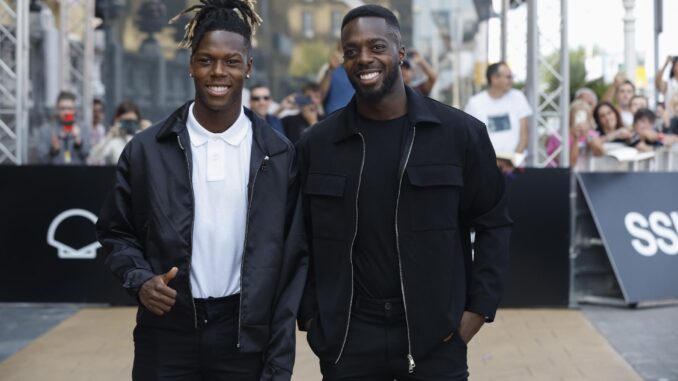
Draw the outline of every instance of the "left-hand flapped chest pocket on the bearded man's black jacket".
[[[346,233],[346,176],[309,173],[304,194],[309,199],[313,238],[343,240]]]

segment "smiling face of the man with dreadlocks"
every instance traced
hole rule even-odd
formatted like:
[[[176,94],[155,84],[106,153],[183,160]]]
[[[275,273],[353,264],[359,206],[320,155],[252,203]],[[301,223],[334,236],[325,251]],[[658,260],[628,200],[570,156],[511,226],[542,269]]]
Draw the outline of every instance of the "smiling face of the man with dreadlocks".
[[[242,105],[242,88],[252,69],[245,38],[215,30],[205,33],[191,57],[198,109],[226,111]]]

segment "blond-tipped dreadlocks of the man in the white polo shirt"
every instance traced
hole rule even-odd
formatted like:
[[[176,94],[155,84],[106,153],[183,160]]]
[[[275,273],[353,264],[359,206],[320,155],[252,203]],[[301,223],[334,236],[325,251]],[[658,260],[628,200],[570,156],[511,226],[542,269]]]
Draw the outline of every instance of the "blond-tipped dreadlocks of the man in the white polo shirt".
[[[186,32],[179,47],[191,49],[192,55],[205,33],[225,30],[243,36],[249,50],[255,28],[261,25],[254,3],[254,0],[200,0],[200,4],[184,9],[170,20],[173,24],[182,16],[195,12],[184,28]]]

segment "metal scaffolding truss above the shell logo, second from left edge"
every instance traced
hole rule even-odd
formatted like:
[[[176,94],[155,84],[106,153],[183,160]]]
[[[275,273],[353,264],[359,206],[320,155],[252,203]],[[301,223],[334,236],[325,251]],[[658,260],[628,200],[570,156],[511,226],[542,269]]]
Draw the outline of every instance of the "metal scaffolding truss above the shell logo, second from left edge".
[[[79,96],[83,126],[92,125],[94,5],[94,0],[59,0],[59,87]]]

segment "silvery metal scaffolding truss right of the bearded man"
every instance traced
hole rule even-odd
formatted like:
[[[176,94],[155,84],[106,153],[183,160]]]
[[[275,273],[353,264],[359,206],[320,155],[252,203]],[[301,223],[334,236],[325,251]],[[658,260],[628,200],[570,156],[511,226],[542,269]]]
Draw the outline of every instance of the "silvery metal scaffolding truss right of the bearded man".
[[[569,167],[570,62],[567,42],[568,0],[531,0],[527,14],[527,98],[530,117],[530,166],[556,162]],[[554,23],[553,20],[559,20]],[[551,38],[549,38],[551,36]],[[552,36],[559,36],[558,40]],[[559,52],[559,54],[549,54]],[[546,53],[546,54],[544,54]],[[549,89],[544,78],[554,78]],[[546,139],[557,136],[560,147],[550,155]],[[562,144],[564,142],[564,144]],[[576,142],[575,142],[576,144]]]

